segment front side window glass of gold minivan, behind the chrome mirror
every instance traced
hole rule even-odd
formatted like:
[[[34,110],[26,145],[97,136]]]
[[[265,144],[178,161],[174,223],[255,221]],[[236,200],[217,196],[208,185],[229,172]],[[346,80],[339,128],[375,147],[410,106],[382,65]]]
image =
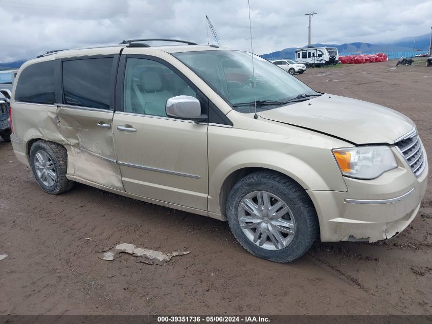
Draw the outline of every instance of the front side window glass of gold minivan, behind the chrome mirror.
[[[170,68],[144,58],[126,60],[123,93],[125,112],[165,117],[169,98],[197,97],[196,92]]]

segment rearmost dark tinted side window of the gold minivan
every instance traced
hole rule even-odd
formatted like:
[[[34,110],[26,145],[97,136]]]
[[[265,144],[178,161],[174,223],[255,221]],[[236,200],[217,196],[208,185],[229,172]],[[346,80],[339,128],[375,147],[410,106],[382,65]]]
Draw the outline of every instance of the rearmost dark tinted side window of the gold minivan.
[[[55,102],[54,61],[34,63],[22,70],[16,84],[15,101]]]

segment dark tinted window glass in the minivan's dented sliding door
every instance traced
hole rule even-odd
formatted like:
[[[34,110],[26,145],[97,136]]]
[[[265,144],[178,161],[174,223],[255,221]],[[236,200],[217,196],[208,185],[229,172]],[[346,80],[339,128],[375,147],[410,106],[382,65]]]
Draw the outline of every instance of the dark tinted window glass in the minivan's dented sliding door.
[[[64,103],[109,109],[112,57],[63,61]]]

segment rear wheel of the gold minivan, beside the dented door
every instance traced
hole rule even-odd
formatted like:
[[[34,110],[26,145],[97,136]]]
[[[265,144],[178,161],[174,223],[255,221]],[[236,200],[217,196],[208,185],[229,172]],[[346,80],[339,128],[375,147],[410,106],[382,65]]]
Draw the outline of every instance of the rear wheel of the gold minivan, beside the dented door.
[[[58,195],[70,190],[74,182],[66,178],[67,152],[62,145],[37,141],[30,149],[30,166],[43,191]]]

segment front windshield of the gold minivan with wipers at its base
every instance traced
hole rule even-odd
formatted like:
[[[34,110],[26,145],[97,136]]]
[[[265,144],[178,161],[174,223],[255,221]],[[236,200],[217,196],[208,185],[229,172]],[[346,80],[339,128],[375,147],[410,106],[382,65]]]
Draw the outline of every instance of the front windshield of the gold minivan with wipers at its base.
[[[299,95],[316,95],[306,84],[275,64],[254,55],[255,89],[252,54],[232,50],[173,53],[215,90],[233,109],[241,113],[274,109],[281,102]],[[274,104],[269,104],[269,101]],[[250,103],[250,104],[246,104]],[[238,106],[237,106],[238,105]]]

